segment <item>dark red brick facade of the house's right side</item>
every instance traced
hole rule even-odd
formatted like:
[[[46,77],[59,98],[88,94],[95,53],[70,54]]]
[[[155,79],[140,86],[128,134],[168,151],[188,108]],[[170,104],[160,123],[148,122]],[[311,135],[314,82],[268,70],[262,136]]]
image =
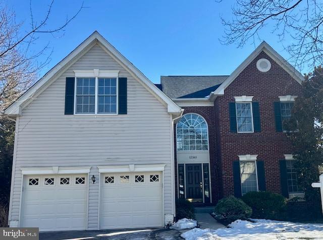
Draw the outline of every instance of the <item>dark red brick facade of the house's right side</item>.
[[[270,71],[257,70],[256,62],[260,58],[270,60]],[[264,161],[267,191],[281,193],[279,160],[284,159],[284,154],[292,153],[292,146],[284,133],[276,132],[274,102],[279,101],[279,96],[300,94],[300,84],[261,52],[225,89],[225,94],[217,97],[214,107],[185,107],[184,114],[196,112],[208,124],[213,204],[234,194],[233,161],[239,160],[238,155],[257,154],[257,159]],[[253,96],[252,100],[259,102],[260,133],[230,132],[229,102],[243,95]]]

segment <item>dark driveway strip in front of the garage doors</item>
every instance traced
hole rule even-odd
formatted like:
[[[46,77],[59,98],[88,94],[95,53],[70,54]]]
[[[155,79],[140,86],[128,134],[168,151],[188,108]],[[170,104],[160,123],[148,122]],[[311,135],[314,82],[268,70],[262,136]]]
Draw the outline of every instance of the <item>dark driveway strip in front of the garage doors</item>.
[[[175,229],[125,229],[125,230],[101,230],[101,231],[57,231],[57,232],[41,232],[39,239],[56,240],[56,239],[112,239],[112,240],[178,240],[181,232]]]

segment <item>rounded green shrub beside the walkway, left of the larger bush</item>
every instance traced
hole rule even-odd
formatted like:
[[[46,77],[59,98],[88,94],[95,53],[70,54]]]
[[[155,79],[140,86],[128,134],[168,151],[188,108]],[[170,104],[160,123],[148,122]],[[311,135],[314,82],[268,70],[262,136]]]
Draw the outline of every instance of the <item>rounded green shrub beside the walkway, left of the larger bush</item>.
[[[229,196],[218,202],[214,213],[218,221],[227,225],[238,219],[249,218],[252,214],[252,209],[241,199]]]

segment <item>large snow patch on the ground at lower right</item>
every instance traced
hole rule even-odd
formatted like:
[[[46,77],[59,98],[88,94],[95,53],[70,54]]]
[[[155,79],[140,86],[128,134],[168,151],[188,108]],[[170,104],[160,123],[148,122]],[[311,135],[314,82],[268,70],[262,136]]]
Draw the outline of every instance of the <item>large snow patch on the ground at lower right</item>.
[[[264,219],[237,220],[230,228],[194,228],[181,234],[186,240],[216,239],[323,239],[323,224],[294,223]]]

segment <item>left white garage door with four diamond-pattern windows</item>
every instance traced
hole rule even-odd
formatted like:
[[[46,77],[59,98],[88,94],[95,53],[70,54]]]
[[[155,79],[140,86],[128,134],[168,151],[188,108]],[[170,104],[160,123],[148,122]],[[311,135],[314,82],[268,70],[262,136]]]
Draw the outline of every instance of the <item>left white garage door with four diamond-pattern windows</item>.
[[[86,229],[87,175],[26,175],[21,227]]]

